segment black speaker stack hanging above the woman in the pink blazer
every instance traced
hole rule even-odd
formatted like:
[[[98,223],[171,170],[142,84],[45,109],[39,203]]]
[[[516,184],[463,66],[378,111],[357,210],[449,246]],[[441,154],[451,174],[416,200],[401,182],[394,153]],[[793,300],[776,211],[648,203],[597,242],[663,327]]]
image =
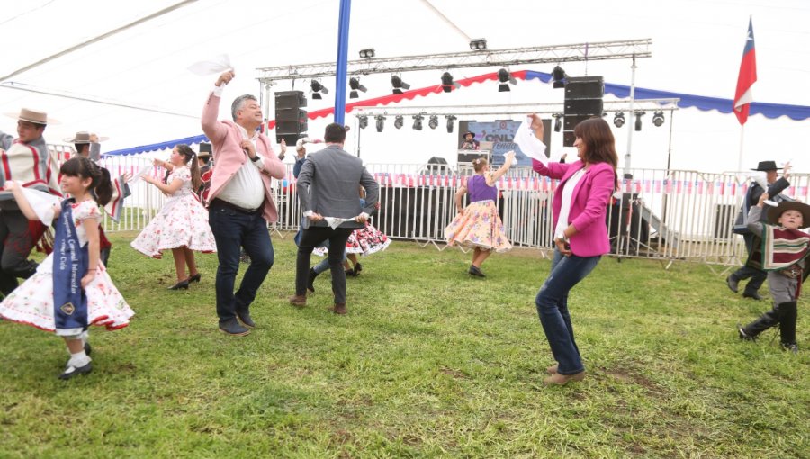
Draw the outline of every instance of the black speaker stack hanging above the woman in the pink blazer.
[[[605,80],[601,76],[569,76],[565,85],[563,147],[573,147],[573,129],[581,121],[602,116]]]

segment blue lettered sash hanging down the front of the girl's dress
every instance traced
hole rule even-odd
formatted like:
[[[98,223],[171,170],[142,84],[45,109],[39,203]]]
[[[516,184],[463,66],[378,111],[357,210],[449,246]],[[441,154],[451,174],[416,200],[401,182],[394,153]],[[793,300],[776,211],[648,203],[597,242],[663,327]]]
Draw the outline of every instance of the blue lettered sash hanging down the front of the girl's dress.
[[[58,335],[77,335],[87,328],[87,297],[82,277],[87,272],[87,245],[81,247],[73,223],[74,199],[62,202],[53,251],[53,317]]]

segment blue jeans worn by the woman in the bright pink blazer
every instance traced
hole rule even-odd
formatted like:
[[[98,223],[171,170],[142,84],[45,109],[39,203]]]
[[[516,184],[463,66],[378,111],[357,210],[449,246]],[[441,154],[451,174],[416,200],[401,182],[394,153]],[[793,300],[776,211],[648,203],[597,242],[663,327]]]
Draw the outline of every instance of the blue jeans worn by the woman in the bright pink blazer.
[[[568,313],[568,293],[599,263],[597,257],[563,257],[554,250],[552,270],[537,293],[535,303],[545,338],[551,346],[554,360],[559,364],[557,373],[577,374],[585,370],[580,349],[573,338],[571,316]]]

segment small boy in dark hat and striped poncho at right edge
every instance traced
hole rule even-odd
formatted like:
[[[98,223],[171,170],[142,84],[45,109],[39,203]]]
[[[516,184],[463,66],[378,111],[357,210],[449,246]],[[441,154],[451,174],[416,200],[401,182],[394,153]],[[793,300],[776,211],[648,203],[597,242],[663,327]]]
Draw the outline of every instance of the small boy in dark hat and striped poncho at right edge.
[[[752,207],[748,228],[763,241],[761,263],[768,272],[773,309],[745,327],[737,326],[737,334],[740,339],[753,341],[761,332],[779,325],[782,348],[797,353],[797,299],[808,274],[810,255],[810,234],[799,229],[810,226],[810,205],[779,202],[767,211],[767,224],[762,224],[761,213],[767,199],[768,193],[762,193]]]

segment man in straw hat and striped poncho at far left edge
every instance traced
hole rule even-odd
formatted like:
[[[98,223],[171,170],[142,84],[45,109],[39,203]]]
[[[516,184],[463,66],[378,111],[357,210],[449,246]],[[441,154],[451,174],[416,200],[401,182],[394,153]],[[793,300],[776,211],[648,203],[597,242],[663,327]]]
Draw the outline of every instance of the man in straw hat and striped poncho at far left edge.
[[[17,118],[17,138],[0,131],[0,189],[6,180],[29,188],[61,196],[56,162],[50,157],[42,132],[48,125],[48,114],[23,108]],[[29,260],[31,248],[45,232],[45,225],[30,221],[14,202],[10,193],[0,197],[0,293],[11,293],[17,277],[27,279],[37,264]]]

